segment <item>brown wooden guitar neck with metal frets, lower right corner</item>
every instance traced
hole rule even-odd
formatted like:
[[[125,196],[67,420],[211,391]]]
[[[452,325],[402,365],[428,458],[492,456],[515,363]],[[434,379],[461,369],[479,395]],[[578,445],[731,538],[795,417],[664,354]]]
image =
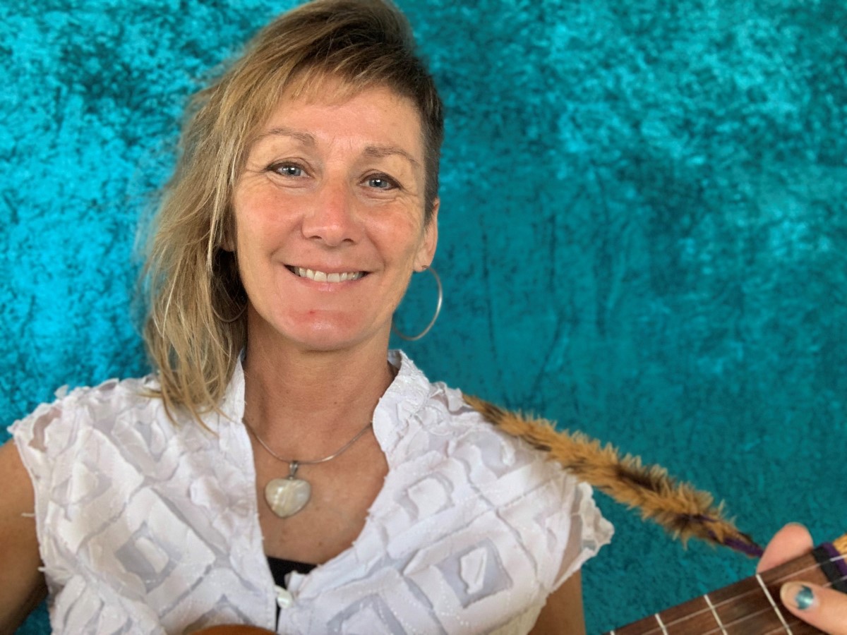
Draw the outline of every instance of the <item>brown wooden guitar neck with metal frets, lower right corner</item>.
[[[673,609],[616,628],[606,635],[763,635],[821,633],[798,620],[779,601],[779,588],[791,580],[837,588],[847,593],[847,534],[811,554],[748,577]]]

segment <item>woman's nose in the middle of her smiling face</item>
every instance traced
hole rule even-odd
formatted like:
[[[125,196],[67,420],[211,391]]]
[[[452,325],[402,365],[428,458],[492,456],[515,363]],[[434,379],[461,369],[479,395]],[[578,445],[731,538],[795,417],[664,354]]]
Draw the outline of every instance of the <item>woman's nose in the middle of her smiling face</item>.
[[[357,243],[362,228],[354,193],[346,183],[324,183],[303,217],[303,236],[326,246]]]

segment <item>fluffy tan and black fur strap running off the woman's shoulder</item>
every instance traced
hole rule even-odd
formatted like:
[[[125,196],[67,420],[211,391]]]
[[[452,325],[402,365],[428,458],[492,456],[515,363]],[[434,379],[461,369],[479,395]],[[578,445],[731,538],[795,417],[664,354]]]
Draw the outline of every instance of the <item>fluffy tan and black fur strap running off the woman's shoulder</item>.
[[[638,508],[674,538],[686,544],[700,538],[745,555],[760,556],[761,547],[714,505],[708,492],[680,483],[664,467],[642,464],[639,456],[621,456],[612,444],[601,445],[584,433],[558,431],[546,419],[507,411],[488,401],[464,395],[468,405],[503,432],[550,454],[577,478],[630,509]]]

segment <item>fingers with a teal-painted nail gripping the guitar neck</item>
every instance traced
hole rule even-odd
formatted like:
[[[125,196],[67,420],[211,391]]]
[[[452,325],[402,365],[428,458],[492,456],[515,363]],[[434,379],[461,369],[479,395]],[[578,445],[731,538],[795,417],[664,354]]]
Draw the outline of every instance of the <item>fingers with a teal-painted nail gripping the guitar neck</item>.
[[[813,546],[809,530],[790,523],[773,536],[756,572],[805,555]],[[779,596],[788,610],[813,627],[829,635],[847,635],[847,594],[817,584],[789,582],[783,584]]]

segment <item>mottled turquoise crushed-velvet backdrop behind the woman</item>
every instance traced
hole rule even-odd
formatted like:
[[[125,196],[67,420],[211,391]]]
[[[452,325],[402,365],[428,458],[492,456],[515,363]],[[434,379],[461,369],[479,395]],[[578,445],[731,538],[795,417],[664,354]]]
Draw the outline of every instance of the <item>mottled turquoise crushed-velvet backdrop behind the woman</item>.
[[[133,244],[185,96],[291,5],[4,0],[3,422],[147,372]],[[401,7],[447,109],[445,308],[412,357],[664,464],[762,541],[847,530],[844,3]],[[416,277],[398,319],[432,306]],[[584,569],[590,632],[752,572],[598,498],[617,534]]]

